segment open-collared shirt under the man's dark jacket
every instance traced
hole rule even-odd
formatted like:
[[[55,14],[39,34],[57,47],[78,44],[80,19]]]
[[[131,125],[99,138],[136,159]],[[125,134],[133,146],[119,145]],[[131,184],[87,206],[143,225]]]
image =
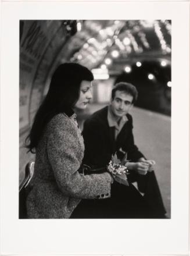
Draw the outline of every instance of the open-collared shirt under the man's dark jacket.
[[[121,129],[123,128],[124,124],[128,121],[128,118],[126,115],[124,115],[120,119],[120,122],[117,123],[116,118],[112,113],[111,106],[109,105],[107,109],[107,121],[108,121],[109,127],[115,127],[115,139],[116,139]]]

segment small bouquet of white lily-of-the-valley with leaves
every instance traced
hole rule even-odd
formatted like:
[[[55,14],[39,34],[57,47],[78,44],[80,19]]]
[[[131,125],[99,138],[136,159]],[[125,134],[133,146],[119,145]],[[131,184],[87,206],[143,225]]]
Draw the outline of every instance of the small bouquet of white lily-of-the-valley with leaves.
[[[124,158],[121,161],[117,158],[117,155],[114,154],[112,155],[112,159],[107,165],[107,170],[112,173],[112,176],[116,182],[129,186],[127,181],[127,175],[129,173],[127,167],[125,166],[126,162],[128,162],[127,154],[124,155]]]

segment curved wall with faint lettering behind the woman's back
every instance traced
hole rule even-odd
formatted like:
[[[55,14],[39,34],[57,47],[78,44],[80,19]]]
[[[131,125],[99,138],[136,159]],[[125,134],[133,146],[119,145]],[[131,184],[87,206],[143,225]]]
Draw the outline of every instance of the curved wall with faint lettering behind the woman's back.
[[[60,20],[20,20],[19,182],[26,163],[35,157],[27,154],[24,141],[53,70],[69,59],[69,40]]]

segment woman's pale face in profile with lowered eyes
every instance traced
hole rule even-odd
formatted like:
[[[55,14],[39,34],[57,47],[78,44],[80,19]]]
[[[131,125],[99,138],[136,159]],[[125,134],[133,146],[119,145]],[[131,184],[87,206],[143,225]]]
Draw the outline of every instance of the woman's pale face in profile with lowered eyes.
[[[92,82],[82,81],[80,85],[80,94],[74,108],[85,109],[89,100],[92,98]]]

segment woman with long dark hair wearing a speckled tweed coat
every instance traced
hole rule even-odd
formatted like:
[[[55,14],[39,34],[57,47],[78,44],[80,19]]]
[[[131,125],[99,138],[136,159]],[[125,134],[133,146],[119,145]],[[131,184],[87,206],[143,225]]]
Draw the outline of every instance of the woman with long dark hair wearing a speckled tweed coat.
[[[28,218],[70,218],[83,198],[110,197],[109,173],[81,172],[84,141],[74,109],[87,106],[93,79],[91,71],[77,63],[64,63],[53,73],[27,137],[28,151],[35,153]]]

